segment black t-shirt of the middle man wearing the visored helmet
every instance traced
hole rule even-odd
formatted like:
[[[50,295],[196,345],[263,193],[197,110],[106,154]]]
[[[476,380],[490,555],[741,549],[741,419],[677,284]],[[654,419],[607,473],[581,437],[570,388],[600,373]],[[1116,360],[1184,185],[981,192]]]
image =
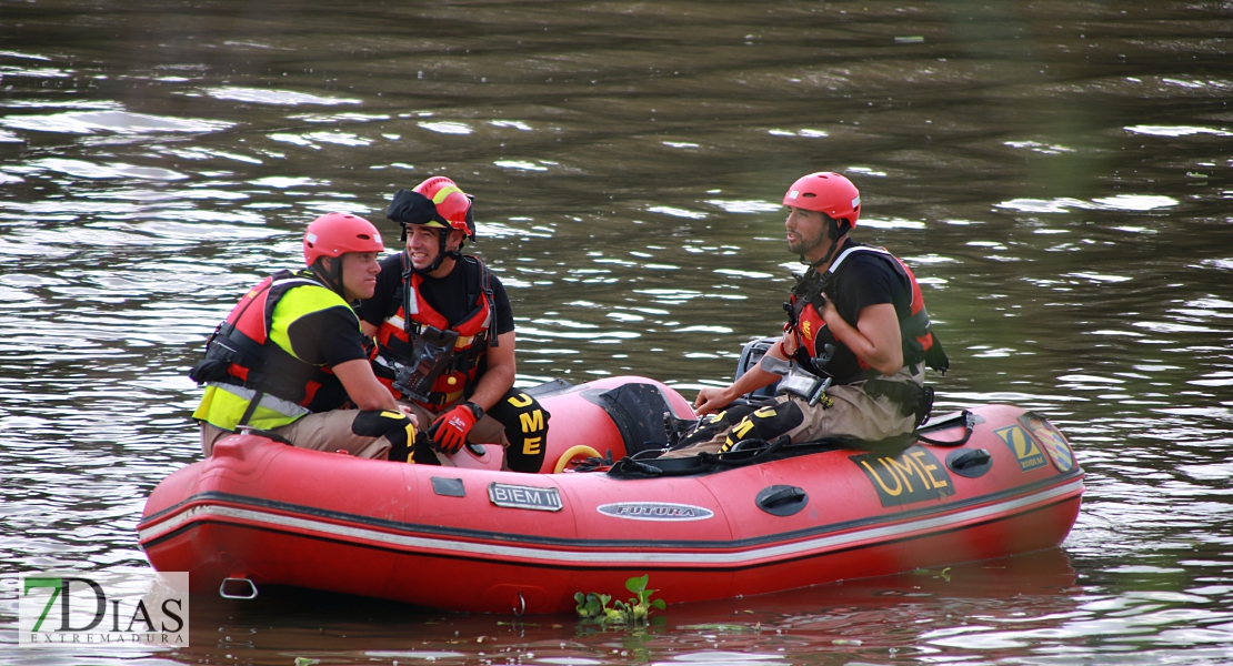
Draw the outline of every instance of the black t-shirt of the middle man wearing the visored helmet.
[[[441,278],[424,276],[419,293],[434,310],[454,326],[475,310],[475,303],[466,302],[467,277],[465,263],[454,262],[454,270]],[[478,276],[476,276],[478,277]],[[402,295],[402,252],[381,260],[381,275],[377,276],[377,288],[372,298],[360,302],[360,319],[380,326],[386,316],[398,310]],[[497,321],[492,324],[496,335],[514,330],[514,311],[509,308],[509,295],[497,276],[492,276],[492,299],[497,307]],[[475,292],[480,293],[482,284],[477,283]]]

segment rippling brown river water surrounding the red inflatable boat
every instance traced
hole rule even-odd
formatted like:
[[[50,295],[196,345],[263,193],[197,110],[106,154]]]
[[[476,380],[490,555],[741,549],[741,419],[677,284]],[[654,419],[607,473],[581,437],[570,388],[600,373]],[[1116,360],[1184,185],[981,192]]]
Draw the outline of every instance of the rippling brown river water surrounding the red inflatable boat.
[[[1228,664],[1231,57],[1222,1],[4,1],[0,662]],[[778,202],[817,170],[921,278],[937,409],[1070,437],[1062,549],[645,632],[289,593],[195,601],[184,650],[14,645],[14,574],[148,568],[144,497],[200,457],[185,371],[317,214],[396,239],[392,192],[449,175],[520,385],[692,398],[778,330]]]

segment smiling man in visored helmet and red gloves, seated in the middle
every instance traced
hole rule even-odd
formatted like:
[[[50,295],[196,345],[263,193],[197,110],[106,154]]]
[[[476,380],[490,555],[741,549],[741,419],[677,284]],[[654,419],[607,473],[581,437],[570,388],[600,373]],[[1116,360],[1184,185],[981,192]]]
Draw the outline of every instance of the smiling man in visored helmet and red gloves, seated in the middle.
[[[399,190],[386,217],[402,225],[406,247],[381,260],[375,294],[359,310],[377,342],[377,379],[425,425],[436,451],[501,444],[506,467],[539,471],[549,412],[513,388],[514,315],[504,287],[461,252],[475,240],[471,197],[432,177]]]

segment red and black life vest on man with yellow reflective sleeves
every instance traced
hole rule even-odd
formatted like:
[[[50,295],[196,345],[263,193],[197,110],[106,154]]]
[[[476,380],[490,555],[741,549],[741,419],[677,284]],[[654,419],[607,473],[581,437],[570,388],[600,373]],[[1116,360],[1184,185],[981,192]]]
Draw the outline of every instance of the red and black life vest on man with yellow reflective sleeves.
[[[342,406],[313,404],[324,384],[338,383],[329,368],[306,363],[270,339],[274,308],[287,291],[296,287],[327,289],[307,272],[279,271],[263,279],[239,299],[218,325],[206,346],[205,358],[189,372],[189,377],[199,384],[217,382],[268,393],[311,411]],[[342,303],[342,299],[338,300]],[[286,313],[293,318],[305,314],[311,313]],[[327,393],[337,396],[342,391]],[[342,396],[345,400],[345,393]]]

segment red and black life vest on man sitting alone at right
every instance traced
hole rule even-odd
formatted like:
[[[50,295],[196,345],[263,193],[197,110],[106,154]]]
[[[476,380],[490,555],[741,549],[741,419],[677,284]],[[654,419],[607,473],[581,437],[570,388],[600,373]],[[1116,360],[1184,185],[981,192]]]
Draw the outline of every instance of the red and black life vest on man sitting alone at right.
[[[819,297],[822,294],[822,291],[847,266],[845,260],[857,252],[883,260],[895,276],[899,277],[903,286],[912,294],[909,314],[899,318],[899,332],[904,347],[904,366],[912,367],[924,361],[930,368],[946,373],[949,367],[949,359],[946,357],[946,352],[942,351],[942,343],[933,335],[933,325],[928,319],[928,313],[925,310],[925,297],[921,294],[921,287],[916,282],[916,276],[912,275],[911,268],[884,247],[858,245],[854,243],[850,244],[847,249],[835,257],[835,261],[831,262],[825,273],[817,275],[811,268],[800,284],[798,284],[798,289],[793,292],[792,302],[788,304],[788,324],[789,327],[795,329],[798,340],[800,341],[800,346],[797,350],[797,362],[806,369],[831,374],[827,371],[827,366],[834,359],[835,353],[834,348],[827,350],[826,347],[842,343],[826,327],[826,321],[822,320],[822,315],[817,307],[815,307],[815,303],[820,303]],[[873,369],[872,366],[859,357],[856,361],[862,372],[854,377],[835,377],[836,383],[850,384],[882,375],[880,372]]]

